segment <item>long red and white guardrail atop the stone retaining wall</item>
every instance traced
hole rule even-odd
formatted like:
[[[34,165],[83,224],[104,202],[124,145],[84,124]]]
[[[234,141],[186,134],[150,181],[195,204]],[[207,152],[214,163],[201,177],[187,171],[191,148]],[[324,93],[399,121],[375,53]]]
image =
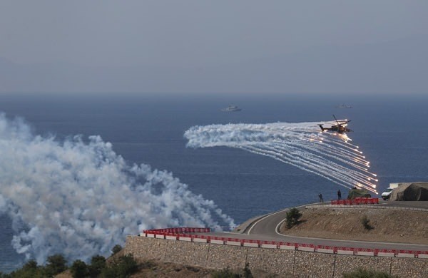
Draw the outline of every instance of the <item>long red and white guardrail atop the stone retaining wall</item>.
[[[181,240],[188,242],[203,242],[211,244],[227,244],[243,247],[260,247],[272,249],[289,249],[306,252],[319,252],[328,254],[350,254],[374,257],[410,257],[428,259],[428,251],[402,250],[402,249],[372,249],[356,247],[335,247],[318,244],[277,242],[266,240],[244,240],[233,237],[215,237],[195,233],[210,232],[210,228],[179,227],[158,230],[143,230],[140,236],[155,237],[164,240]]]

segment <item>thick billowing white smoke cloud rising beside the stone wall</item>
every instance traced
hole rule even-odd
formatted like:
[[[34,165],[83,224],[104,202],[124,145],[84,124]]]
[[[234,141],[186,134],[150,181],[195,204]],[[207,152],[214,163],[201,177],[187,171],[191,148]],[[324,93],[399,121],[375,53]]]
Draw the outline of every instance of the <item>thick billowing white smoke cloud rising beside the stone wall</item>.
[[[58,142],[0,115],[0,153],[0,213],[11,217],[16,251],[39,263],[106,255],[148,228],[234,225],[171,173],[127,165],[99,136]]]

